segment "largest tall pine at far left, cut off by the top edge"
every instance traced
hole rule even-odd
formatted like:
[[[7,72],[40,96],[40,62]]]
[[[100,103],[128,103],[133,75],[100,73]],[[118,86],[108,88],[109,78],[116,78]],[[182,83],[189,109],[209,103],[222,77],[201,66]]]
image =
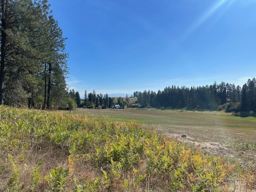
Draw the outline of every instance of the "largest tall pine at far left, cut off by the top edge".
[[[6,104],[26,104],[33,95],[38,60],[46,52],[42,40],[48,9],[46,0],[1,0],[0,101]]]

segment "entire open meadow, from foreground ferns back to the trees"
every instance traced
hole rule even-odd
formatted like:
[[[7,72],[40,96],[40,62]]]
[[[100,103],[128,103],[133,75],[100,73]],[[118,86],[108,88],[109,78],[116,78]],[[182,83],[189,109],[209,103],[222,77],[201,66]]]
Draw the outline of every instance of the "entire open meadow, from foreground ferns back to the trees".
[[[254,192],[255,124],[222,112],[1,106],[0,191]]]

